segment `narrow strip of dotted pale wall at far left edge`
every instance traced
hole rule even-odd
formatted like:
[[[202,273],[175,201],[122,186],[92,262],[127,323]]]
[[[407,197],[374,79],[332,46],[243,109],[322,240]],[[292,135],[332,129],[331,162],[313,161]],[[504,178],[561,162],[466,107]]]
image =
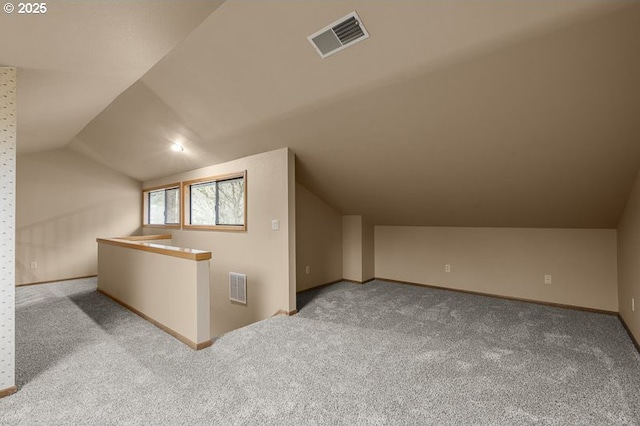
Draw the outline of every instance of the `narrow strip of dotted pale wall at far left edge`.
[[[16,69],[0,68],[0,391],[15,384]]]

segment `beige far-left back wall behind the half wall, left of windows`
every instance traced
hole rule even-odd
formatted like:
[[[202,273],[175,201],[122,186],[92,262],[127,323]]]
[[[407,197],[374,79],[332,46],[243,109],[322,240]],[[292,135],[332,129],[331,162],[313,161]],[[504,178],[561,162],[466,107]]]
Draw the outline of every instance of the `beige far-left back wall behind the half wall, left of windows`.
[[[18,156],[17,284],[95,275],[96,237],[139,231],[141,188],[68,149]]]

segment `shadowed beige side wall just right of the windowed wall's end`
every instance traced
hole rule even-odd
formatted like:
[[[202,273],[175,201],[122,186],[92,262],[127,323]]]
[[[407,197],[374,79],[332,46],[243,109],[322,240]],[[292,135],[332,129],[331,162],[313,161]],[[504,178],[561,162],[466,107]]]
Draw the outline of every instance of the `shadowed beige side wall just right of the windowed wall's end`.
[[[300,184],[296,184],[296,254],[298,291],[342,279],[342,215]]]

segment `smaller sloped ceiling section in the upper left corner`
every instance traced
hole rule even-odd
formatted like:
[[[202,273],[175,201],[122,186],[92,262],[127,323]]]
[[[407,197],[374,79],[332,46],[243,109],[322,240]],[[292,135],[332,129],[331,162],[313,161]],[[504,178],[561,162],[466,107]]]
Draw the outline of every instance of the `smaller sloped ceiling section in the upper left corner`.
[[[65,146],[221,1],[46,3],[44,14],[0,13],[0,64],[18,67],[20,154]]]

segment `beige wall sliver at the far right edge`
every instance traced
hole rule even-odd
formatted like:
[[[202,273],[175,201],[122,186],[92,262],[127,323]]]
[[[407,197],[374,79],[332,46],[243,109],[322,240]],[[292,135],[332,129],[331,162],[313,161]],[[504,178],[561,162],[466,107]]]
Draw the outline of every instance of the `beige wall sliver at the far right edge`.
[[[640,174],[618,225],[618,305],[620,316],[640,341]]]

